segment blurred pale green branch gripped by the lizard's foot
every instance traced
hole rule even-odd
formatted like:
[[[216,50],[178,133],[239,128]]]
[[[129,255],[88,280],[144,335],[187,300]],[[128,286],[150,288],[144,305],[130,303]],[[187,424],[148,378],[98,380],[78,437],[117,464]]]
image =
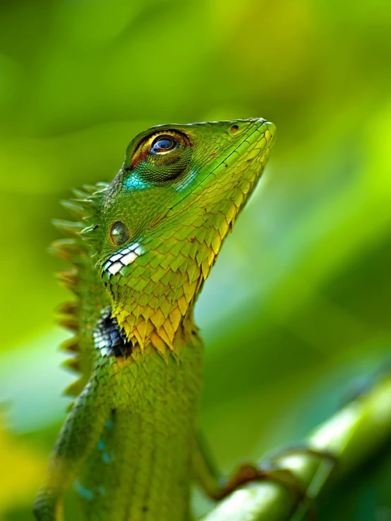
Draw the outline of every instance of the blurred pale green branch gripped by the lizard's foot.
[[[332,473],[352,474],[391,439],[391,378],[356,398],[308,439],[308,447],[335,456],[336,462],[305,451],[282,455],[275,462],[303,484],[308,498],[318,496]],[[335,464],[334,464],[335,463]],[[308,509],[294,490],[270,479],[253,482],[219,502],[202,521],[289,521]],[[301,514],[301,515],[300,515]]]

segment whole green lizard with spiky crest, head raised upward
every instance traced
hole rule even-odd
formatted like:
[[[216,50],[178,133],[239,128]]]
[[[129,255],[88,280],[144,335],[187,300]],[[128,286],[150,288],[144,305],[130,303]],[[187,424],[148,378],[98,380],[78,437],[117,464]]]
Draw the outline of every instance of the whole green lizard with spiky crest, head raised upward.
[[[251,196],[275,126],[263,119],[159,125],[136,136],[111,184],[64,202],[80,222],[54,252],[77,295],[63,325],[81,376],[38,520],[59,520],[76,482],[85,518],[185,521],[198,479],[223,496],[203,460],[196,418],[203,343],[193,307],[224,238]],[[239,479],[240,482],[240,479]]]

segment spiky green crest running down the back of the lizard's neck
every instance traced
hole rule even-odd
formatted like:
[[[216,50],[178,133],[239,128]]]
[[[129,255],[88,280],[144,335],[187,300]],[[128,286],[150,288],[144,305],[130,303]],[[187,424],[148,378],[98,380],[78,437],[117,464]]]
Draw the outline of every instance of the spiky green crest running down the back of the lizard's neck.
[[[71,354],[62,365],[78,374],[78,379],[64,391],[66,396],[78,396],[88,381],[94,349],[92,330],[106,305],[104,288],[95,274],[94,245],[99,240],[97,223],[107,187],[107,183],[97,183],[73,190],[75,197],[61,204],[77,220],[53,221],[65,238],[54,241],[50,251],[71,264],[57,276],[76,297],[59,308],[59,325],[74,333],[60,345],[60,350]]]

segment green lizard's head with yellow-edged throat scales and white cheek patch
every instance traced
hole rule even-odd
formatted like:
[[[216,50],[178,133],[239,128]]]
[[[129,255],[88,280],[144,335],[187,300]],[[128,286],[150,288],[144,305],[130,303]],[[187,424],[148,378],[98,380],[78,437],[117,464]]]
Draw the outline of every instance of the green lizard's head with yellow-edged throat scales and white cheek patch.
[[[173,349],[275,135],[263,119],[159,125],[105,190],[97,269],[133,345]]]

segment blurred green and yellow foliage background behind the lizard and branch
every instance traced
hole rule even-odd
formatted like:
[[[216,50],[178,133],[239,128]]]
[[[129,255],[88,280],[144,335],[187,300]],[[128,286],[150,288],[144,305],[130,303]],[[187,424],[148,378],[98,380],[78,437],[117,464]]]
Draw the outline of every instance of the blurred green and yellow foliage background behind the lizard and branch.
[[[265,176],[198,302],[200,424],[224,472],[302,439],[390,351],[390,2],[0,10],[0,519],[32,520],[74,378],[56,350],[68,333],[54,309],[69,295],[47,253],[51,219],[66,218],[59,200],[71,188],[111,180],[133,135],[157,123],[277,125]],[[380,459],[320,519],[391,520],[391,460]]]

